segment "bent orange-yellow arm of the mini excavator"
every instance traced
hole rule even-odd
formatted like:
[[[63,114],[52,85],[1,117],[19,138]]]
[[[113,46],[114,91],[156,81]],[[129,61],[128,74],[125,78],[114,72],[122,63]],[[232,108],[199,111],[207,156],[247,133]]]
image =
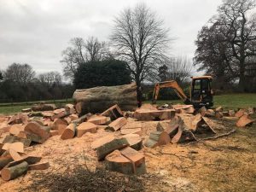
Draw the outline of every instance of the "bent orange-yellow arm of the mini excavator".
[[[183,92],[183,89],[177,84],[175,80],[172,81],[164,81],[160,82],[154,85],[154,92],[153,92],[153,99],[152,102],[155,102],[157,100],[157,97],[159,95],[160,88],[170,87],[173,88],[175,93],[179,98],[183,100],[183,102],[188,102],[188,96],[186,96]]]

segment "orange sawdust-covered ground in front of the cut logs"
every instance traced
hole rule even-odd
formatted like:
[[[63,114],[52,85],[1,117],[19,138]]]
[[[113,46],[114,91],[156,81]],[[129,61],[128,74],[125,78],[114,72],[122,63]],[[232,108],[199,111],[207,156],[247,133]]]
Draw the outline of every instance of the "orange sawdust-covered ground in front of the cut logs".
[[[154,131],[156,124],[155,121],[143,122],[143,135],[146,137]],[[97,177],[104,177],[101,182],[106,178],[110,183],[121,183],[118,190],[105,184],[104,190],[96,188],[97,191],[256,191],[255,123],[251,127],[236,128],[235,121],[212,119],[212,128],[218,133],[232,129],[236,132],[198,143],[143,148],[148,173],[138,177],[114,172],[104,176],[92,173],[104,165],[97,162],[90,143],[108,134],[118,136],[119,131],[99,130],[96,134],[86,133],[65,141],[60,136],[50,137],[44,144],[26,148],[26,154],[42,155],[42,162],[49,161],[49,169],[29,171],[9,182],[0,179],[0,191],[87,191],[74,186],[82,186],[83,179],[88,177],[99,188],[104,183],[97,183]],[[131,188],[124,188],[129,183]]]

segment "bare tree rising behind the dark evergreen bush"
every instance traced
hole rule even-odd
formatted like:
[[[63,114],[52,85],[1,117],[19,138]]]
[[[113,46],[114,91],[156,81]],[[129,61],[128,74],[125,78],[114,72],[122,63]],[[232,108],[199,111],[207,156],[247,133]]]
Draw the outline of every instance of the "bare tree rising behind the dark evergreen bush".
[[[108,46],[97,38],[72,38],[70,46],[62,51],[63,72],[66,78],[73,79],[77,67],[88,61],[102,61],[109,57]]]

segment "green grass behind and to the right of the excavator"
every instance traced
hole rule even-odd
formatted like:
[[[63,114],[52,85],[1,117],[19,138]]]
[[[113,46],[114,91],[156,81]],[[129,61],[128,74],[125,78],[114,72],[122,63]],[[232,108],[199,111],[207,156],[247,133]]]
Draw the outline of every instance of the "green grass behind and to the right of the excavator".
[[[151,101],[147,101],[146,103],[150,103]],[[223,108],[229,109],[236,109],[236,108],[248,108],[248,107],[255,107],[256,108],[256,93],[234,93],[234,94],[227,94],[221,96],[213,96],[214,108],[218,106],[222,106]],[[169,100],[169,101],[157,101],[157,104],[165,104],[165,103],[181,103],[181,100]]]

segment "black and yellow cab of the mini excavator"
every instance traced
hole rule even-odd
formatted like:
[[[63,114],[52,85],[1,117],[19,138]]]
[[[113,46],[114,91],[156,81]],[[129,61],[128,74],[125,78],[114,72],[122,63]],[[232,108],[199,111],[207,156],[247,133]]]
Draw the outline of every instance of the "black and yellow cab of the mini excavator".
[[[213,106],[212,77],[191,77],[190,102],[195,108]]]

